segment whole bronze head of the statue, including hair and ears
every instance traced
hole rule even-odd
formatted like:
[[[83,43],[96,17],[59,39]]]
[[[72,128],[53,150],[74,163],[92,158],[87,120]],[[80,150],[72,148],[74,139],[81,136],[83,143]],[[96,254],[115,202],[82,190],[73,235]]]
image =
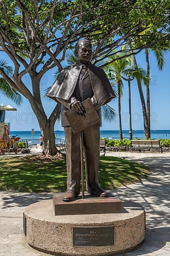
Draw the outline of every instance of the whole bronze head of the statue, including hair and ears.
[[[88,65],[92,61],[92,44],[89,40],[79,40],[75,45],[75,54],[78,61]]]

